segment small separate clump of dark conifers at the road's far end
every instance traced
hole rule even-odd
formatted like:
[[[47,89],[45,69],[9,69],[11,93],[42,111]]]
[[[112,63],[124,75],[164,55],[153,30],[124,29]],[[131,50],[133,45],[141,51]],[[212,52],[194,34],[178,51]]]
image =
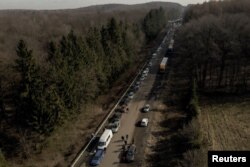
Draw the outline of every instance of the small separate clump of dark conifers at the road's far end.
[[[143,20],[143,31],[148,41],[154,39],[166,26],[166,15],[163,8],[152,9]]]

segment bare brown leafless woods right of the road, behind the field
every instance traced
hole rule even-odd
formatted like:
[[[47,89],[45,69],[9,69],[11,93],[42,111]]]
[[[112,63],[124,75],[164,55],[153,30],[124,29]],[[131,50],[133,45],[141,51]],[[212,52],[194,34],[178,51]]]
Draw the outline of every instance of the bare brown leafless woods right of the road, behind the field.
[[[248,90],[248,4],[243,0],[209,2],[186,11],[186,23],[177,34],[176,50],[183,57],[182,64],[190,66],[190,78],[195,78],[199,90],[227,93]],[[204,13],[203,8],[209,10]]]

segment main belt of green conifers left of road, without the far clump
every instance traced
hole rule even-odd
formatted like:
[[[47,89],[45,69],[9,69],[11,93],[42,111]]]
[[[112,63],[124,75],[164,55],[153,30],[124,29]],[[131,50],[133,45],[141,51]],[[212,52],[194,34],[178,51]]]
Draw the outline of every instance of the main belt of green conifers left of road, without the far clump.
[[[20,79],[14,88],[18,122],[46,134],[104,93],[136,59],[135,36],[114,18],[101,29],[90,28],[85,37],[71,31],[48,44],[45,67],[35,63],[32,50],[20,40],[15,63]]]

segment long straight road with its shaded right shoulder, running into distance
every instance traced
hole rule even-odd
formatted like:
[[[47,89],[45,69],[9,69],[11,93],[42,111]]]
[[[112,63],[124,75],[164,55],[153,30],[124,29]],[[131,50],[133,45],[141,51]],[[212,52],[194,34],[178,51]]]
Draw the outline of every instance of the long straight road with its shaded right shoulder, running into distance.
[[[168,32],[167,36],[164,38],[165,44],[163,44],[162,50],[158,52],[155,58],[151,58],[152,66],[148,76],[144,81],[142,81],[139,90],[136,92],[134,98],[129,102],[129,112],[123,113],[121,118],[121,126],[117,133],[113,135],[113,138],[106,150],[105,156],[102,159],[100,167],[138,167],[141,166],[140,161],[143,160],[145,141],[148,133],[150,133],[150,121],[153,117],[153,112],[141,113],[141,109],[145,104],[150,104],[154,107],[157,100],[157,90],[159,90],[159,84],[163,79],[162,74],[158,74],[159,64],[166,53],[166,46],[169,43],[170,38],[173,36],[172,33]],[[157,48],[156,48],[157,49]],[[155,50],[156,50],[155,49]],[[115,108],[114,108],[115,109]],[[149,118],[149,127],[137,127],[136,124],[142,118]],[[101,133],[98,134],[100,136]],[[120,156],[122,152],[122,146],[124,141],[122,141],[122,136],[128,135],[128,144],[134,139],[137,146],[137,154],[135,156],[134,163],[121,163]],[[98,138],[97,138],[98,140]],[[91,145],[91,144],[90,144]],[[93,145],[94,146],[94,145]],[[89,151],[82,151],[80,155],[76,158],[71,167],[86,167],[88,166],[89,156],[95,147],[89,147]],[[92,151],[91,151],[92,150]]]

